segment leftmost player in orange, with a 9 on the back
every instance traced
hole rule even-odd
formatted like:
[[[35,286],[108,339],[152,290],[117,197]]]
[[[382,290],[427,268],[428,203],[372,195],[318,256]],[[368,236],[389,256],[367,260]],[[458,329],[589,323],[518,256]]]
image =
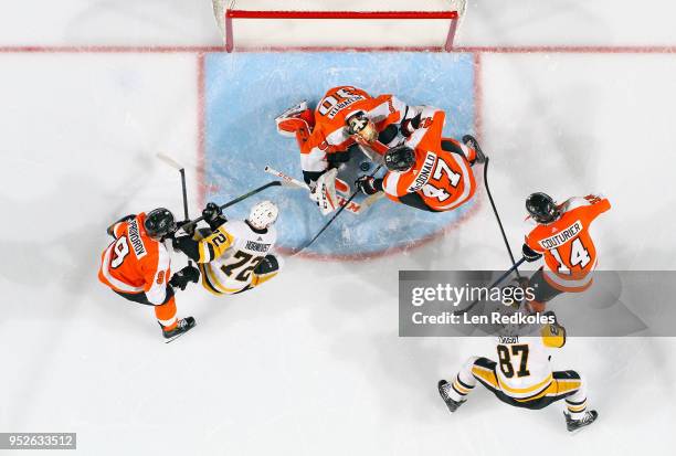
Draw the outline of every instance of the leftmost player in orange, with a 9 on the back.
[[[171,257],[163,244],[176,232],[173,214],[159,208],[127,215],[107,230],[114,241],[101,256],[98,279],[123,298],[154,306],[166,339],[173,339],[194,326],[194,318],[177,319],[175,289],[186,289],[200,273],[187,266],[171,275]]]

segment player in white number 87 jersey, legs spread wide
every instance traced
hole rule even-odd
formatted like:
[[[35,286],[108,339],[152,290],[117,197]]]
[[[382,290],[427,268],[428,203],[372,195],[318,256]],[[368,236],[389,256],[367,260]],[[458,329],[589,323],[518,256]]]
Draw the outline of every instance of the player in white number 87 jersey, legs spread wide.
[[[599,414],[587,410],[587,385],[578,372],[551,369],[550,353],[564,343],[566,329],[558,322],[520,328],[507,325],[497,337],[498,361],[469,358],[453,380],[439,381],[439,393],[451,412],[467,401],[477,383],[516,407],[540,410],[564,400],[568,431],[578,431]]]

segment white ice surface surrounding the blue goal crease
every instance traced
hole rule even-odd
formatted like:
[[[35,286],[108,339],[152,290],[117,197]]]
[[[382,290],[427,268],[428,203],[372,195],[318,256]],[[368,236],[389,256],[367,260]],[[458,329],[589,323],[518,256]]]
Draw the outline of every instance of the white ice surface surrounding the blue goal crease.
[[[84,455],[635,455],[674,447],[669,338],[568,341],[553,367],[582,372],[601,414],[573,437],[558,406],[517,410],[486,391],[447,413],[436,381],[469,356],[492,354],[492,341],[399,338],[397,273],[505,267],[480,189],[471,218],[416,248],[359,262],[289,258],[277,278],[230,298],[198,287],[180,293],[179,316],[193,315],[198,327],[163,344],[151,311],[105,289],[96,271],[112,221],[157,205],[180,213],[177,173],[156,152],[188,166],[193,214],[200,194],[213,190],[200,183],[209,130],[199,50],[220,44],[211,4],[13,3],[0,15],[0,431],[77,432]],[[600,267],[676,268],[676,59],[659,47],[676,44],[665,19],[670,8],[503,3],[471,2],[458,44],[477,56],[475,127],[513,246],[521,243],[529,192],[563,199],[600,191],[613,203],[595,223]],[[116,49],[71,47],[91,45]],[[279,94],[295,100],[294,86]],[[258,114],[276,113],[250,113],[242,128]],[[183,264],[177,255],[173,269]]]

